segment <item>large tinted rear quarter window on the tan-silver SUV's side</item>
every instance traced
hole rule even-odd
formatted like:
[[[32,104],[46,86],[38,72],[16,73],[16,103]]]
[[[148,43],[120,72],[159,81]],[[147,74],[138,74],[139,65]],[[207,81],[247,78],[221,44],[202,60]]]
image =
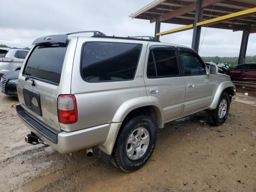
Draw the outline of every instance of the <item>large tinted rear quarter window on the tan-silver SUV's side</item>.
[[[87,82],[132,80],[141,44],[88,42],[82,52],[81,75]]]

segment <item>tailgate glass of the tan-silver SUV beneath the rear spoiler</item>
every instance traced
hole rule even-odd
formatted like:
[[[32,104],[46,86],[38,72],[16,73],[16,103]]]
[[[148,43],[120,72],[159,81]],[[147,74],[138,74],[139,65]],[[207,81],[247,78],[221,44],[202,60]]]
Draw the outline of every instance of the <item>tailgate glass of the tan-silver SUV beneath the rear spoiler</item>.
[[[36,46],[28,58],[24,74],[59,84],[65,53],[65,44]]]

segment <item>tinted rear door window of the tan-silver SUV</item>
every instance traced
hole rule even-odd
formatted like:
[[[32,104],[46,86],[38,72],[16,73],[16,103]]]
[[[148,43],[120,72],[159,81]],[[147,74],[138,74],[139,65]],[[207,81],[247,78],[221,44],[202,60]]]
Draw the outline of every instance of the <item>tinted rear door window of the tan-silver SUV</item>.
[[[153,60],[154,57],[154,60]],[[155,61],[155,63],[154,63]],[[154,65],[155,64],[155,65]],[[168,77],[168,76],[178,76],[179,68],[176,58],[175,51],[171,50],[151,50],[148,67],[147,76],[149,78],[154,77]]]

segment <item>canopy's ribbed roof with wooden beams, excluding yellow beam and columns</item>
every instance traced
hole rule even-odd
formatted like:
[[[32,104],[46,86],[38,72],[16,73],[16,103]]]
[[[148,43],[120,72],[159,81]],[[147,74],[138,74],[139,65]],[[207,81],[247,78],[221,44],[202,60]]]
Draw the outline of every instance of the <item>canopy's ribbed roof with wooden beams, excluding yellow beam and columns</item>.
[[[132,18],[190,25],[194,24],[197,0],[155,0],[130,16]],[[201,0],[202,21],[256,7],[256,0]],[[208,25],[211,28],[256,32],[256,12]]]

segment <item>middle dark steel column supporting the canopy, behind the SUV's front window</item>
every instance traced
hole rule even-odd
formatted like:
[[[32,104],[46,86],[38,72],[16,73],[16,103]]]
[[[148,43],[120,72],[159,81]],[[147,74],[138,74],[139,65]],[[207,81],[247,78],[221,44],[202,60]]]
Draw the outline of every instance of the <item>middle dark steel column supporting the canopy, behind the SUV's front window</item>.
[[[197,0],[196,2],[196,15],[194,20],[194,30],[193,30],[193,38],[192,38],[192,49],[196,52],[199,50],[200,44],[200,34],[201,34],[201,26],[196,26],[196,23],[201,22],[203,19],[204,9],[201,8],[201,0]]]

